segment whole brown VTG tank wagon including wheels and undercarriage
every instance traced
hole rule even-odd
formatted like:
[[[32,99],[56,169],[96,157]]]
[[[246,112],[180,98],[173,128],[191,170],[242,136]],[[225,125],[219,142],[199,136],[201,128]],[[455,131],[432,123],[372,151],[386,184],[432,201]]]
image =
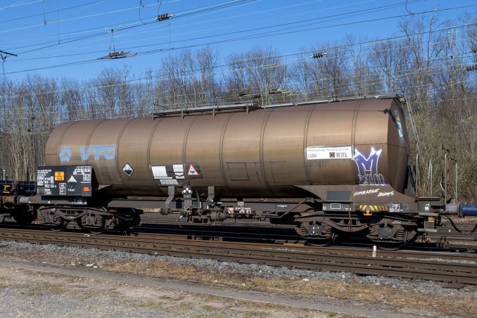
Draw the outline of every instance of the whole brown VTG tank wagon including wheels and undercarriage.
[[[360,96],[65,122],[49,136],[36,194],[24,185],[0,196],[1,208],[53,230],[130,231],[139,208],[155,208],[188,222],[295,224],[317,245],[362,234],[400,248],[437,231],[445,214],[477,215],[447,191],[416,196],[403,103]]]

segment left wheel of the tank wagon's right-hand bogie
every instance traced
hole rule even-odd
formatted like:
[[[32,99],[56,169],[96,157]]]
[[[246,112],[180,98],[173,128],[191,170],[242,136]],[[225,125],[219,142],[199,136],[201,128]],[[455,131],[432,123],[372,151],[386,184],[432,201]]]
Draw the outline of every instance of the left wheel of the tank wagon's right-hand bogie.
[[[330,246],[338,237],[328,224],[315,221],[303,222],[295,230],[311,246]]]

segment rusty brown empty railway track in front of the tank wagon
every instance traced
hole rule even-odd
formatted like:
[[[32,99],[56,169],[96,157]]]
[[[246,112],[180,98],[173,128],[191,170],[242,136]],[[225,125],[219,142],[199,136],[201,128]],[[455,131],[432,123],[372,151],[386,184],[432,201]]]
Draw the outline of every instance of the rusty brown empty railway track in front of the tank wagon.
[[[379,251],[378,257],[371,257],[369,250],[359,248],[314,248],[300,246],[296,243],[211,241],[174,234],[141,233],[137,236],[111,234],[94,236],[76,231],[53,233],[39,229],[2,229],[0,239],[102,250],[122,250],[150,255],[210,258],[295,269],[352,272],[358,275],[477,284],[475,253],[459,253],[457,256],[452,253],[421,253],[415,250],[403,250],[399,252]],[[449,261],[457,258],[471,262]]]

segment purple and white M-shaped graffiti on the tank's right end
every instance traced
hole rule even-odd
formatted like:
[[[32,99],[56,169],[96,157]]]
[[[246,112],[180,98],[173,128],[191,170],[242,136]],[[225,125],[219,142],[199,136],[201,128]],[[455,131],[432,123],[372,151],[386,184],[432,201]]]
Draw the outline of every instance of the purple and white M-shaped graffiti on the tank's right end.
[[[382,149],[376,150],[371,147],[369,155],[364,155],[355,149],[355,162],[358,166],[360,184],[386,184],[383,174],[378,172],[379,158]]]

